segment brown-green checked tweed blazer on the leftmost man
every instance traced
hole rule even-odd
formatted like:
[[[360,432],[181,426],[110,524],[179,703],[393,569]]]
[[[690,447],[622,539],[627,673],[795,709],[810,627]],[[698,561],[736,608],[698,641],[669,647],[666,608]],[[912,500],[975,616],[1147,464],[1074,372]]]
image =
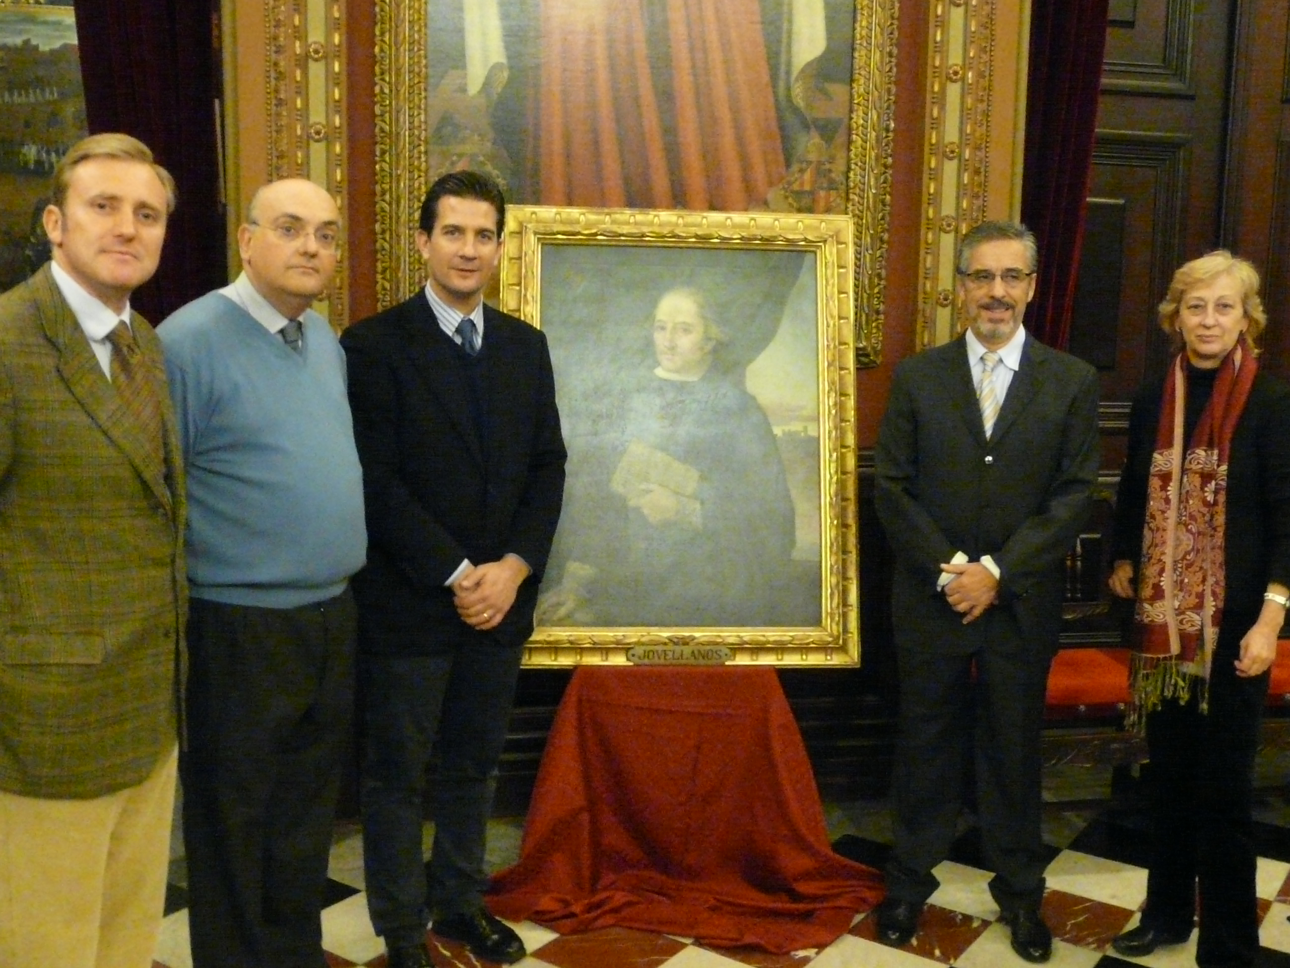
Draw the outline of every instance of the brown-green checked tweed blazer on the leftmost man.
[[[126,416],[49,266],[0,296],[0,790],[92,798],[175,742],[183,472],[161,345],[165,465]]]

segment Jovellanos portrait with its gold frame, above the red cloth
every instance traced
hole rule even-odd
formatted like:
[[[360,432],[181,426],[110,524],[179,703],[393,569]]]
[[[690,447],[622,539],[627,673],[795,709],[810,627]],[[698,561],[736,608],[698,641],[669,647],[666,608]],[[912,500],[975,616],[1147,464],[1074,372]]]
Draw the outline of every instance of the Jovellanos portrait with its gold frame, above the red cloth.
[[[846,216],[507,208],[569,448],[525,665],[859,663],[853,252]]]

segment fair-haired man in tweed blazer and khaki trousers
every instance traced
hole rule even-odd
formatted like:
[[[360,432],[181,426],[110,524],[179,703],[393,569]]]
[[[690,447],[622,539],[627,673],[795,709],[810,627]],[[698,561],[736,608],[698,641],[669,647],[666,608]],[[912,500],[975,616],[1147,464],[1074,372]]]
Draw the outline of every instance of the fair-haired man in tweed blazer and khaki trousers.
[[[129,297],[173,207],[146,146],[81,141],[44,214],[53,261],[0,296],[0,965],[143,968],[160,929],[184,492]]]

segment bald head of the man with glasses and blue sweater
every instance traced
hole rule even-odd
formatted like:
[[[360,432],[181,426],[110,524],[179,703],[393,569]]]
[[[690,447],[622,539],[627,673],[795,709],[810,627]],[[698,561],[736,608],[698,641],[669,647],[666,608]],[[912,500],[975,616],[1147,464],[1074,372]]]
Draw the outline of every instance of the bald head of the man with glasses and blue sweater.
[[[330,285],[339,239],[335,199],[306,178],[284,178],[252,196],[237,248],[255,290],[298,319]]]

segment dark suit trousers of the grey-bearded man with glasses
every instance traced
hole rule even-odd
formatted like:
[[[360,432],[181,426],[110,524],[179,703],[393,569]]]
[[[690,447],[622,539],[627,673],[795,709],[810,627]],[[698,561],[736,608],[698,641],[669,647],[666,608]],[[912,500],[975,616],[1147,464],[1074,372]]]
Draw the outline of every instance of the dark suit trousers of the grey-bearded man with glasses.
[[[944,605],[942,605],[944,607]],[[902,641],[897,630],[900,714],[894,767],[894,845],[888,896],[922,903],[939,882],[974,756],[989,892],[1004,911],[1044,897],[1040,727],[1051,649],[1028,641],[1005,608],[966,632],[973,650]],[[957,631],[957,630],[956,630]]]

